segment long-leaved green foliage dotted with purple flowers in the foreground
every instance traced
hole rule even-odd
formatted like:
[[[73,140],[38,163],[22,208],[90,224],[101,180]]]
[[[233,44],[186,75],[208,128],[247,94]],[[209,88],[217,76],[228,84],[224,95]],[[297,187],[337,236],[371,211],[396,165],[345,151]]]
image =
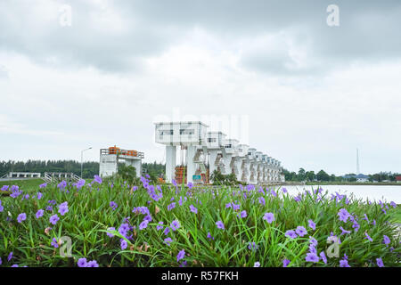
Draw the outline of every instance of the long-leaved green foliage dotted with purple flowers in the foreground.
[[[331,199],[327,192],[305,192],[296,201],[280,189],[275,190],[275,196],[275,192],[247,187],[191,190],[186,186],[164,184],[158,189],[145,181],[135,190],[121,180],[86,183],[79,190],[72,184],[66,189],[47,186],[40,189],[41,199],[37,199],[38,188],[29,189],[29,198],[22,199],[27,191],[21,189],[23,192],[18,197],[1,199],[4,207],[0,212],[3,266],[77,266],[78,259],[85,257],[100,266],[179,266],[183,262],[187,266],[253,266],[255,262],[261,266],[282,266],[282,261],[289,259],[289,266],[309,267],[339,266],[339,259],[344,255],[348,256],[351,266],[377,266],[376,258],[381,258],[386,266],[399,265],[400,238],[392,225],[399,215],[399,207],[391,210],[394,214],[385,214],[381,210],[385,205],[369,204],[362,199],[345,196]],[[50,200],[54,200],[55,205],[51,205]],[[114,210],[110,208],[111,201],[118,205]],[[64,216],[58,212],[62,202],[67,202],[69,208]],[[172,203],[176,203],[174,208]],[[234,209],[232,203],[234,207],[238,205],[238,209]],[[228,204],[232,207],[227,208]],[[190,205],[197,208],[196,214],[190,211]],[[147,210],[142,208],[143,214],[138,207]],[[339,220],[341,208],[358,219],[357,232],[350,219],[347,223]],[[38,209],[45,210],[44,216],[36,217]],[[241,218],[239,213],[243,210],[247,216]],[[274,214],[271,224],[263,219],[267,212]],[[18,223],[20,213],[25,213],[27,218]],[[363,219],[364,214],[369,222]],[[53,215],[60,217],[54,225],[49,222]],[[142,229],[140,224],[145,217],[151,217],[151,221],[144,223],[146,227]],[[308,227],[310,219],[316,224],[315,230]],[[173,221],[180,224],[176,231],[170,225]],[[225,224],[225,230],[217,228],[217,221]],[[158,231],[159,222],[163,222],[163,226]],[[126,223],[129,230],[122,232],[120,226]],[[297,239],[285,235],[298,226],[304,226],[307,235]],[[340,226],[350,233],[340,235]],[[167,227],[170,230],[166,235]],[[107,232],[114,237],[109,237]],[[318,254],[327,253],[331,232],[340,236],[340,258],[328,258],[327,264],[323,260],[307,262],[309,236],[317,240]],[[372,241],[366,239],[365,232]],[[389,236],[389,245],[382,242],[384,235]],[[61,240],[61,237],[70,238],[71,257],[62,257],[62,246],[54,248],[51,244],[53,239]],[[166,238],[172,239],[170,246]],[[121,240],[127,241],[127,248],[121,248]],[[255,242],[258,249],[251,250],[250,242]],[[176,256],[182,250],[184,258],[177,261]],[[13,257],[7,261],[10,252]]]

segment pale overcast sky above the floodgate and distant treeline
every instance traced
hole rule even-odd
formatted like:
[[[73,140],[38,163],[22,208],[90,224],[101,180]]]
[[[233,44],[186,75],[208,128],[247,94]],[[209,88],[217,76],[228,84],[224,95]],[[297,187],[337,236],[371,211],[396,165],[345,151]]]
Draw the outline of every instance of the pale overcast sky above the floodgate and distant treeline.
[[[165,162],[153,122],[210,118],[291,171],[401,172],[400,27],[399,0],[1,0],[0,160]]]

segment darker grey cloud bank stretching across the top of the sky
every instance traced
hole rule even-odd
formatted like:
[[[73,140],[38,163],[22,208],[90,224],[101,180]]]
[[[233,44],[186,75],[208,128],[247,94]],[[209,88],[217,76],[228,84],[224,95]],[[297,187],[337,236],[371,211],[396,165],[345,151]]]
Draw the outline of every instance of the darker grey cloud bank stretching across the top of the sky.
[[[64,4],[56,2],[58,4]],[[32,60],[60,66],[93,66],[112,72],[141,69],[143,59],[163,53],[200,27],[218,40],[236,43],[280,31],[299,45],[307,40],[308,64],[294,66],[287,45],[242,54],[242,66],[277,75],[319,74],[350,61],[398,58],[401,50],[401,3],[394,1],[117,1],[121,31],[97,27],[100,7],[72,3],[73,25],[57,18],[41,22],[33,4],[2,1],[0,49],[27,54]],[[326,25],[326,7],[340,6],[340,27]],[[107,11],[107,9],[106,9]],[[57,11],[55,11],[57,12]],[[227,45],[228,46],[228,45]],[[312,62],[312,64],[310,63]]]

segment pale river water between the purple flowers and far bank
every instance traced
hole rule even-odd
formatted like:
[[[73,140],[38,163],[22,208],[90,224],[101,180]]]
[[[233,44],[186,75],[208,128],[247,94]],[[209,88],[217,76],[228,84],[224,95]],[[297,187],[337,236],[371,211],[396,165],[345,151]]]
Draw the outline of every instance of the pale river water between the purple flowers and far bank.
[[[307,186],[307,185],[288,185],[285,187],[291,195],[298,195],[299,192],[305,190],[311,190],[312,187],[316,189],[318,186]],[[401,204],[401,185],[323,185],[321,186],[324,191],[329,193],[335,193],[336,191],[340,194],[354,195],[357,199],[369,199],[371,201],[382,201],[387,202],[394,201],[397,204]]]

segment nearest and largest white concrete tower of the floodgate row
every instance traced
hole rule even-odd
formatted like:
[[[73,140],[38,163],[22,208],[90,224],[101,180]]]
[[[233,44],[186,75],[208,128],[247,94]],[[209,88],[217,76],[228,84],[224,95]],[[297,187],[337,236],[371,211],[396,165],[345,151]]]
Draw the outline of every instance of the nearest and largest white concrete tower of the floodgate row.
[[[192,183],[195,173],[203,173],[202,159],[206,149],[208,126],[200,121],[155,123],[155,142],[166,145],[166,181],[175,179],[176,147],[186,148],[187,182]],[[205,148],[203,148],[205,147]],[[202,167],[203,165],[203,167]]]

